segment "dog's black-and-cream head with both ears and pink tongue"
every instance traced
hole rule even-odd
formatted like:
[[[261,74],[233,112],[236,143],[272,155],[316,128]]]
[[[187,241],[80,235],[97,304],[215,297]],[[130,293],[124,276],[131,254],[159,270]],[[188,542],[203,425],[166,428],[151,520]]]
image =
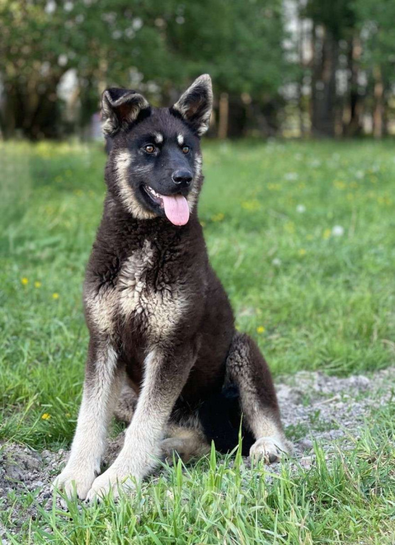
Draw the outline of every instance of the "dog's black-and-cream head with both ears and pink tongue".
[[[107,184],[134,218],[188,222],[202,185],[200,137],[211,110],[209,75],[195,80],[171,108],[153,108],[133,90],[104,91],[103,132],[111,141]]]

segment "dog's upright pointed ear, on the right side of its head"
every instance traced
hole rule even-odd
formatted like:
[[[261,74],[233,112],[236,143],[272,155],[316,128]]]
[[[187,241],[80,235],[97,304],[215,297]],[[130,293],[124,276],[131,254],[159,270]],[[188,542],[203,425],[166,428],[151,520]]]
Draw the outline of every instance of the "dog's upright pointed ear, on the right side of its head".
[[[171,107],[202,136],[208,129],[212,110],[212,85],[208,74],[200,75]]]

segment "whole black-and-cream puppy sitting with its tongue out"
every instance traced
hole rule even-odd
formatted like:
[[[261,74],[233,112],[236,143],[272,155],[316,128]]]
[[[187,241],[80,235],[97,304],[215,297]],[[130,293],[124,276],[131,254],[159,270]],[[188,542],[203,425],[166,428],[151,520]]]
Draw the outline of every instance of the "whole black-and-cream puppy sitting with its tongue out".
[[[104,91],[111,151],[85,279],[85,386],[70,459],[55,480],[68,495],[117,496],[173,450],[189,459],[207,453],[211,440],[231,450],[241,418],[244,453],[274,462],[291,451],[269,368],[254,341],[234,329],[198,220],[200,137],[211,110],[208,75],[170,109],[151,107],[133,90]],[[126,387],[134,396],[124,447],[99,475]]]

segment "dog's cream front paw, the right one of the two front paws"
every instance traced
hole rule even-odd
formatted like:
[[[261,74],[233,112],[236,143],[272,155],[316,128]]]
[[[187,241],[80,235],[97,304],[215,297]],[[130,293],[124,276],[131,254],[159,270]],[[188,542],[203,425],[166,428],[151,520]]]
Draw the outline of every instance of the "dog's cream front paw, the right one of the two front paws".
[[[121,490],[125,492],[133,492],[136,488],[136,480],[131,475],[131,470],[127,465],[114,464],[107,471],[97,477],[92,487],[87,493],[87,502],[100,501],[109,492],[112,492],[112,497],[117,499]]]

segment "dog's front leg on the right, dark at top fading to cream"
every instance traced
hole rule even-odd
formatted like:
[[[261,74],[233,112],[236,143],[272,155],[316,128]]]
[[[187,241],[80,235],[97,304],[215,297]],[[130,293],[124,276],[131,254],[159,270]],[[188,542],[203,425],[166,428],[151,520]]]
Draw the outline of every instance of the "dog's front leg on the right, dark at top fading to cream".
[[[136,412],[126,430],[124,448],[117,460],[94,480],[87,499],[102,497],[112,490],[133,489],[158,464],[161,440],[174,403],[195,363],[193,344],[166,349],[156,347],[144,362],[144,383]]]

